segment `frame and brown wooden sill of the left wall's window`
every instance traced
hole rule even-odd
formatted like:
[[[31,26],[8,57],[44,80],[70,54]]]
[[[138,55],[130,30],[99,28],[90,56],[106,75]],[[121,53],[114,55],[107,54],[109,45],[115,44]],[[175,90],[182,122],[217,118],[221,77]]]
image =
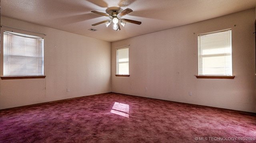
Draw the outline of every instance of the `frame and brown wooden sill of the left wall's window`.
[[[4,75],[4,65],[2,65],[2,74],[1,74],[1,79],[28,79],[28,78],[45,78],[46,76],[44,75],[44,38],[43,37],[38,37],[30,34],[23,34],[23,33],[17,33],[17,32],[10,32],[10,31],[3,31],[3,37],[4,33],[7,34],[12,34],[20,37],[25,37],[25,38],[35,38],[35,39],[42,39],[42,74],[32,74],[32,75]],[[4,38],[3,38],[4,41]],[[4,54],[4,45],[3,45],[3,54]],[[3,58],[1,60],[4,60],[4,55],[2,55]],[[2,61],[4,63],[4,61]]]

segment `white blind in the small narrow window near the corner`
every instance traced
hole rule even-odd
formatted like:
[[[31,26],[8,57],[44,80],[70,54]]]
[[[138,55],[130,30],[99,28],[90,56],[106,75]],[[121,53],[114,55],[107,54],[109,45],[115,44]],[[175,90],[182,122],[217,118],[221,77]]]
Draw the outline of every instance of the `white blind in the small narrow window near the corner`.
[[[116,49],[116,74],[129,74],[129,47]]]

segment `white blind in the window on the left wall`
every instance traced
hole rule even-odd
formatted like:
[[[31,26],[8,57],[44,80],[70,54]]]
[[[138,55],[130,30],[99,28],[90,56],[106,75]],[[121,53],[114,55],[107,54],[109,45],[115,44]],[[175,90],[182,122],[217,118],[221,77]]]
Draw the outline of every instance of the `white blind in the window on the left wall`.
[[[3,76],[44,75],[44,39],[4,31]]]

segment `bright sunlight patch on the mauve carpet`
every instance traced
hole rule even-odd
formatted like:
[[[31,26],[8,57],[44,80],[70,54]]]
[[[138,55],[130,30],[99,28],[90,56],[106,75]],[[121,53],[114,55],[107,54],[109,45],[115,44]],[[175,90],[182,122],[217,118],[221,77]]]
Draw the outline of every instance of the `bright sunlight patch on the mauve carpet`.
[[[110,113],[129,118],[129,105],[115,102]]]

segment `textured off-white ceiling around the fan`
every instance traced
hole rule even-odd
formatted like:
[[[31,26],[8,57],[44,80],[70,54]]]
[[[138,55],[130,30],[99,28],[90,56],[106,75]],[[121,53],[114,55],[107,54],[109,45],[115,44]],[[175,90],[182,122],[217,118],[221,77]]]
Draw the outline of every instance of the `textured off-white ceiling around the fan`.
[[[106,13],[113,6],[132,9],[122,18],[142,24],[127,23],[120,31],[104,24],[92,26],[109,19],[92,10]],[[255,6],[256,0],[1,0],[1,16],[112,42]],[[90,28],[97,31],[89,31]]]

